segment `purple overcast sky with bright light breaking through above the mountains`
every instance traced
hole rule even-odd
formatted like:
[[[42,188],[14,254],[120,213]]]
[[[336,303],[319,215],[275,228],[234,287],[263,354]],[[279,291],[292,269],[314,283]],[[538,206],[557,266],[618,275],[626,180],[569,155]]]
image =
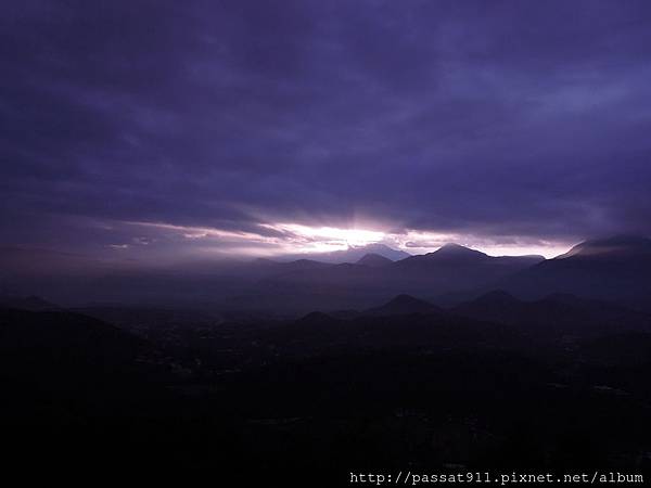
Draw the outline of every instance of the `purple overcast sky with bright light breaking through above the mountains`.
[[[0,245],[139,260],[651,233],[651,3],[22,1]]]

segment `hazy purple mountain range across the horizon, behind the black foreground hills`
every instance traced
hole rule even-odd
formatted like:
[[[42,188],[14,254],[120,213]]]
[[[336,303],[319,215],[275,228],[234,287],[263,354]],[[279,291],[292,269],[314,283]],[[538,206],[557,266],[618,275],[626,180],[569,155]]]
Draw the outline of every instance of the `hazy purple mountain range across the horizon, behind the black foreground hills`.
[[[337,252],[339,253],[339,252]],[[363,253],[363,254],[361,254]],[[295,260],[255,259],[202,265],[201,269],[151,269],[65,277],[29,277],[25,294],[63,306],[138,304],[193,308],[207,312],[298,317],[314,310],[367,310],[397,295],[456,306],[501,290],[521,300],[552,294],[607,300],[651,310],[651,241],[622,235],[586,241],[552,259],[542,256],[488,256],[447,244],[419,256],[383,244],[349,248],[324,262],[310,255]],[[396,260],[397,258],[397,260]],[[334,259],[330,254],[328,259]],[[36,271],[35,271],[36,272]],[[11,283],[7,283],[11,284]],[[9,288],[8,288],[9,290]],[[0,299],[12,306],[20,295]],[[18,308],[48,310],[29,298]]]

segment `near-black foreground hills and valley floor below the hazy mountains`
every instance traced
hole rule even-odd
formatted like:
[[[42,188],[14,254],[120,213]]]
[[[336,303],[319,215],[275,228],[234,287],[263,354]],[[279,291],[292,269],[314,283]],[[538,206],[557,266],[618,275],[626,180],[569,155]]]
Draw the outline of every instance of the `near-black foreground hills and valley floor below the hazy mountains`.
[[[174,316],[151,344],[79,313],[4,310],[5,465],[199,467],[280,486],[405,465],[643,472],[648,334],[540,349],[521,323],[426,305],[398,297],[392,313],[349,320]]]

